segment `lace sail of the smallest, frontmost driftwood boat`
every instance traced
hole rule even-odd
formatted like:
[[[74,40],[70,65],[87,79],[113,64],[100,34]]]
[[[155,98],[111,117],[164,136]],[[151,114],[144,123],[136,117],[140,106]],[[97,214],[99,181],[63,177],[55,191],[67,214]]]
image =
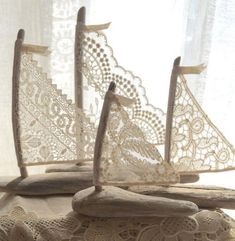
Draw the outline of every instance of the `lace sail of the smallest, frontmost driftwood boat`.
[[[129,108],[128,108],[129,109]],[[100,184],[176,183],[178,175],[120,104],[111,103],[102,148]]]

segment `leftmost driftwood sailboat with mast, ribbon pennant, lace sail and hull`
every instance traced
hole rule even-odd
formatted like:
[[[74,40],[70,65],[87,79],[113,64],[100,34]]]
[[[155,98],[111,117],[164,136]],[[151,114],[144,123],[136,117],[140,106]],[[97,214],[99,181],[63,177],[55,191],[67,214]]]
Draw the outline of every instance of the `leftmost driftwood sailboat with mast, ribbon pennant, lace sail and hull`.
[[[24,30],[19,30],[13,66],[12,123],[21,177],[1,177],[0,190],[4,192],[73,193],[91,185],[90,172],[27,174],[28,166],[93,158],[94,125],[43,72],[35,55],[48,53],[47,47],[24,44]],[[87,131],[80,142],[83,128]]]

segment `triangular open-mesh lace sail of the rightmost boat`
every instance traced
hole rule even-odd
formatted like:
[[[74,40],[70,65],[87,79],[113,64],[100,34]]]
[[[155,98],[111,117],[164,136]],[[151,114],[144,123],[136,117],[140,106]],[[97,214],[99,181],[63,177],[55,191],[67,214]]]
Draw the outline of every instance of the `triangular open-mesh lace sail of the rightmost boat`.
[[[235,149],[211,122],[179,75],[174,103],[171,161],[179,172],[235,169]]]

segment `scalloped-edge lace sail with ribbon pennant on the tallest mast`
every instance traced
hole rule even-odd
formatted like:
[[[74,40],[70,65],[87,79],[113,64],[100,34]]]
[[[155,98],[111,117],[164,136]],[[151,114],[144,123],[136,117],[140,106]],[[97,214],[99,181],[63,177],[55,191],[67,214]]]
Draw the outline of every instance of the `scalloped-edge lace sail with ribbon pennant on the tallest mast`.
[[[148,103],[142,81],[132,72],[119,66],[101,31],[109,25],[79,25],[76,53],[78,68],[83,74],[84,109],[97,123],[103,97],[111,81],[117,84],[116,93],[136,100],[129,110],[130,118],[153,144],[164,144],[165,114]],[[92,95],[92,98],[90,98]]]

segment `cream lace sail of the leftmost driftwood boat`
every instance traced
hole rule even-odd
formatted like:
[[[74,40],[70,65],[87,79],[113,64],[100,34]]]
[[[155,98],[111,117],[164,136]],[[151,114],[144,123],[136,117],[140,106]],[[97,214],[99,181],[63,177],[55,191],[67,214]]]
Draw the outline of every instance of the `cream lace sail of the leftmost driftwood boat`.
[[[24,165],[78,162],[84,156],[93,157],[94,126],[52,84],[32,54],[22,54],[17,89],[19,99],[15,116]],[[78,139],[81,131],[82,139]]]

